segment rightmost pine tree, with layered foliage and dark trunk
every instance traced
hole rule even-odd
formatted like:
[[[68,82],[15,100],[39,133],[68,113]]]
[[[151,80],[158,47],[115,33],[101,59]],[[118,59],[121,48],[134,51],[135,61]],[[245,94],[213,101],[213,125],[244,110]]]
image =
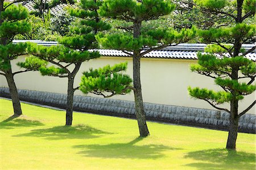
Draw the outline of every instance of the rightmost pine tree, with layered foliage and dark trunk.
[[[213,78],[215,83],[223,90],[214,92],[213,90],[189,87],[188,91],[192,97],[203,99],[214,108],[224,110],[230,114],[226,148],[235,150],[238,121],[242,115],[255,105],[255,101],[253,101],[247,109],[238,112],[238,101],[253,93],[256,88],[253,85],[256,65],[245,57],[248,53],[255,51],[255,46],[248,51],[242,48],[242,43],[250,40],[255,35],[255,24],[245,24],[247,18],[255,15],[255,0],[196,0],[195,3],[208,13],[222,14],[233,18],[233,20],[230,20],[233,27],[198,31],[202,42],[209,45],[205,48],[207,53],[199,53],[198,64],[191,66],[193,72]],[[226,8],[230,6],[234,6],[234,10],[227,12]],[[229,109],[218,106],[225,102],[230,103]]]

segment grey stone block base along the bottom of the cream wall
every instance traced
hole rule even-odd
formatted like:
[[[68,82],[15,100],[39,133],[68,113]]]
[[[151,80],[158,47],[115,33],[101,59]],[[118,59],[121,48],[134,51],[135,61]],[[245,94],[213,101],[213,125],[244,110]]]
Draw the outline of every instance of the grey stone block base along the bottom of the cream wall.
[[[65,109],[67,94],[18,90],[20,100],[56,106]],[[0,88],[0,96],[10,98],[9,88]],[[75,96],[74,110],[102,115],[135,118],[134,102],[118,99]],[[229,114],[225,111],[197,109],[172,105],[144,103],[148,120],[170,122],[179,125],[227,130]],[[239,131],[255,134],[255,115],[245,114],[240,118]]]

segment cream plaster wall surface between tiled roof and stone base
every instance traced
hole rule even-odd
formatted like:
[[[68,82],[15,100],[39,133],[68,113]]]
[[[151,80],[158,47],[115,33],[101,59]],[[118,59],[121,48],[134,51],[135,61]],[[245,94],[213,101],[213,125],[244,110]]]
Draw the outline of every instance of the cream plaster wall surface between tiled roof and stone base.
[[[23,61],[25,56],[13,61],[13,70],[19,68],[15,65],[18,61]],[[101,57],[100,59],[90,60],[82,64],[80,72],[76,76],[75,86],[79,85],[83,71],[89,68],[99,68],[106,64],[116,64],[128,61],[127,74],[132,77],[132,60],[128,57]],[[200,99],[192,99],[188,96],[187,87],[200,86],[201,88],[220,89],[214,85],[212,78],[192,73],[189,65],[196,63],[196,60],[178,59],[147,59],[141,60],[141,81],[144,102],[160,103],[166,105],[197,107],[202,109],[213,109],[207,102]],[[37,90],[44,92],[67,93],[67,78],[41,76],[39,72],[26,72],[15,75],[15,82],[18,89]],[[0,76],[0,86],[7,87],[5,77]],[[220,89],[221,90],[221,89]],[[84,95],[79,90],[75,94]],[[88,94],[88,96],[95,96]],[[98,97],[98,96],[97,96]],[[125,96],[114,96],[115,99],[133,101],[133,93]],[[242,111],[255,99],[255,93],[246,96],[240,102]],[[223,107],[228,107],[225,105]],[[255,106],[249,111],[255,114]]]

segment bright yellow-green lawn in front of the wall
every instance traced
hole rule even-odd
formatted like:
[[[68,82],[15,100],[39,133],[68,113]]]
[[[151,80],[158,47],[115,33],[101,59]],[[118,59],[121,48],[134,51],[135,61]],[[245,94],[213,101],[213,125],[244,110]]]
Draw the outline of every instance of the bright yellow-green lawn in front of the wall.
[[[4,99],[0,109],[0,169],[255,169],[253,134],[228,152],[224,131],[148,122],[143,139],[131,119],[74,113],[64,127],[64,111],[23,103],[11,119]]]

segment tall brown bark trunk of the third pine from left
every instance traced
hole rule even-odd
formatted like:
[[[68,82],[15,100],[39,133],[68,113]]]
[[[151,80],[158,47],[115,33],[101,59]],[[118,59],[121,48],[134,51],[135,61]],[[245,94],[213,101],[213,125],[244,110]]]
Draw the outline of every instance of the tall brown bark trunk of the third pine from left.
[[[141,32],[141,22],[134,22],[134,38],[138,38]],[[133,84],[134,84],[134,101],[136,118],[139,126],[139,134],[142,137],[150,135],[147,123],[146,114],[143,107],[142,89],[141,89],[141,56],[140,51],[134,51],[133,55]]]

